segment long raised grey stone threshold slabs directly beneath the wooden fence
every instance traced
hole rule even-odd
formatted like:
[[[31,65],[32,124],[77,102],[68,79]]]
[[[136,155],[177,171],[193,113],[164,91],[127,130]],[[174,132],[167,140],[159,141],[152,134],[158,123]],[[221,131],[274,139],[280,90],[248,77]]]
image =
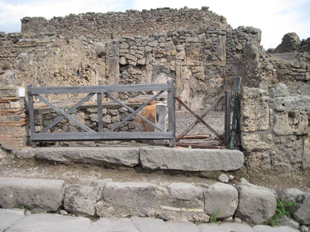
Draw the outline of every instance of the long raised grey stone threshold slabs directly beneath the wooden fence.
[[[143,147],[51,147],[16,151],[17,158],[109,164],[145,169],[183,171],[237,170],[243,166],[241,151],[228,149],[189,149],[164,146]]]

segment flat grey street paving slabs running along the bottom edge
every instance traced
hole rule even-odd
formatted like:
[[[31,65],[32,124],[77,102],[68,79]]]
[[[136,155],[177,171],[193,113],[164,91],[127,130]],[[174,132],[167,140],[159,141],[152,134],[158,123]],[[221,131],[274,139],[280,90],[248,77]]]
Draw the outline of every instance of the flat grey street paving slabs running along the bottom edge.
[[[199,226],[189,221],[163,221],[150,217],[103,217],[92,222],[87,218],[57,214],[31,214],[24,216],[24,210],[0,209],[0,232],[14,231],[66,231],[66,232],[299,232],[289,227],[254,226],[237,223],[202,223]]]

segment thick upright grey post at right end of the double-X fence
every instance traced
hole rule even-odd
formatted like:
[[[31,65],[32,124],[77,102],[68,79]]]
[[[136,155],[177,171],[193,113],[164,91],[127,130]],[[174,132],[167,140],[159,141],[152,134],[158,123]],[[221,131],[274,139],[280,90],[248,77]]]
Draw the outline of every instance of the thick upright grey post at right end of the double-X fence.
[[[175,146],[175,98],[174,98],[174,82],[173,79],[167,81],[170,85],[168,91],[168,131],[172,132],[172,138],[169,140],[169,147]]]

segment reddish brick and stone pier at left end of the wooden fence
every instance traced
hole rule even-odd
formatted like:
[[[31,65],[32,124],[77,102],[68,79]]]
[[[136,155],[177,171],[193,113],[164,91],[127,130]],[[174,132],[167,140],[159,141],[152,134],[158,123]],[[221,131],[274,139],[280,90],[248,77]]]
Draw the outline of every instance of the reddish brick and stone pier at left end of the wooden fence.
[[[18,88],[0,88],[0,145],[7,150],[21,150],[27,140],[27,115],[24,98]]]

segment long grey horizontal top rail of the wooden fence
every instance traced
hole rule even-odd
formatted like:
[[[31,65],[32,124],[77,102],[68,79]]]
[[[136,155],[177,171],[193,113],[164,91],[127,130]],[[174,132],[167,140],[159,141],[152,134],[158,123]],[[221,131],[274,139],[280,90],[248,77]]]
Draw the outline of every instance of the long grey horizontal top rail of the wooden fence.
[[[61,93],[97,93],[97,92],[137,92],[137,91],[166,91],[170,86],[164,84],[124,84],[96,86],[60,86],[32,87],[28,94],[61,94]]]

